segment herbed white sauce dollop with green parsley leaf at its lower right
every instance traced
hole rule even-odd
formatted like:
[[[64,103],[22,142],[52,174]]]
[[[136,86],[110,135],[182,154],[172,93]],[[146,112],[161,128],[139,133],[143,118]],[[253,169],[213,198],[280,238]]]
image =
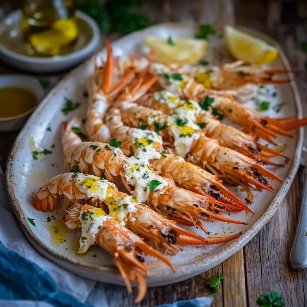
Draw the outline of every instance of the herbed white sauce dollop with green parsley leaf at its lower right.
[[[148,165],[135,157],[127,158],[126,164],[123,167],[126,181],[129,185],[135,187],[133,197],[141,203],[147,199],[150,193],[150,182],[152,180],[161,182],[154,191],[160,190],[168,185],[165,180],[155,175]]]

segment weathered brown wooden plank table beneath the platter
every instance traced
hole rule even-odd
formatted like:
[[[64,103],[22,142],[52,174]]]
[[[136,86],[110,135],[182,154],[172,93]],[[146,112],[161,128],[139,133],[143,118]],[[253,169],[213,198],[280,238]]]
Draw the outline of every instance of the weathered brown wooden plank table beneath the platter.
[[[6,2],[6,1],[5,1]],[[161,5],[161,1],[158,1]],[[162,3],[164,11],[161,14],[158,4],[151,7],[150,13],[157,11],[161,16],[158,20],[191,20],[190,15],[184,15],[186,2],[177,5],[176,1]],[[10,7],[7,1],[6,10]],[[307,16],[307,5],[304,1],[298,3],[298,16],[293,13],[293,3],[287,2],[288,9],[280,11],[280,1],[194,1],[191,5],[197,20],[202,23],[212,22],[212,15],[223,6],[223,20],[217,23],[231,23],[269,34],[276,39],[286,52],[295,73],[295,80],[301,94],[303,109],[307,114],[306,90],[307,73],[305,71],[306,55],[298,49],[301,41],[307,40],[306,23],[298,22],[299,17]],[[198,12],[198,5],[204,5]],[[179,6],[179,9],[178,9]],[[171,10],[169,9],[171,8]],[[182,17],[180,13],[182,12]],[[212,13],[213,11],[213,13]],[[3,12],[3,11],[2,11]],[[183,13],[185,12],[185,13]],[[292,13],[291,13],[292,12]],[[290,14],[291,13],[291,14]],[[286,24],[282,24],[281,17]],[[157,16],[156,16],[157,17]],[[182,17],[182,18],[181,18]],[[196,18],[195,17],[195,18]],[[0,11],[1,18],[1,11]],[[209,21],[208,21],[209,20]],[[11,73],[17,70],[0,63],[0,73]],[[57,79],[63,74],[56,75]],[[10,148],[17,136],[17,132],[0,134],[1,167],[5,169]],[[178,300],[186,300],[197,296],[208,295],[205,282],[217,273],[218,268],[225,275],[222,287],[213,300],[213,306],[256,306],[257,298],[267,291],[277,291],[282,294],[285,306],[307,306],[307,270],[293,270],[289,266],[289,254],[297,226],[297,217],[300,208],[302,184],[305,168],[301,167],[295,177],[290,191],[278,208],[273,218],[266,226],[240,251],[231,256],[219,266],[169,286],[149,288],[145,299],[136,306],[155,306]],[[135,292],[134,292],[135,294]],[[110,306],[134,306],[133,298],[127,295],[122,286],[107,286],[107,299]]]

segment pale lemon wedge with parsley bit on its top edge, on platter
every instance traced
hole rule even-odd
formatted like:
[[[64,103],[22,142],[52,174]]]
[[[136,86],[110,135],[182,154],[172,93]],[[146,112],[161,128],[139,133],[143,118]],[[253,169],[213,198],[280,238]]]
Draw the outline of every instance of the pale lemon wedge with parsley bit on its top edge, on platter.
[[[184,65],[199,61],[207,49],[207,41],[202,39],[164,39],[148,36],[145,45],[150,48],[161,63]]]

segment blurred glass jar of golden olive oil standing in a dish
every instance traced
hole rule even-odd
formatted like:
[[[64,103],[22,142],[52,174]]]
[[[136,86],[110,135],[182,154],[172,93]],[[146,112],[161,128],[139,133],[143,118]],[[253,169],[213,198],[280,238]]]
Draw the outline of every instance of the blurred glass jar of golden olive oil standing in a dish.
[[[72,52],[78,37],[74,0],[24,0],[22,31],[31,56]]]

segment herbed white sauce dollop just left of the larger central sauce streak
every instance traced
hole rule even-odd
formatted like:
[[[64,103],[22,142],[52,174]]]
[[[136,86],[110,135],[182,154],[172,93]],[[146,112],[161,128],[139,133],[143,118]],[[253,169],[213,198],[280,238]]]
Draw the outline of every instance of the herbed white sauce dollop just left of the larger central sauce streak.
[[[156,151],[152,142],[162,144],[162,137],[154,131],[131,129],[128,135],[128,141],[135,145],[134,156],[145,164],[149,164],[149,160],[161,158],[161,154]]]

